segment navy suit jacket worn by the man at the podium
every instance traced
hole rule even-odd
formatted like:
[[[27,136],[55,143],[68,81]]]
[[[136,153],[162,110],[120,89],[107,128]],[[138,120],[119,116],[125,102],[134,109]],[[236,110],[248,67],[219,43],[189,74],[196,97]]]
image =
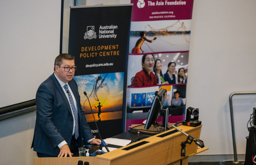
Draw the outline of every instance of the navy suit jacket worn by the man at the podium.
[[[77,83],[72,79],[68,82],[77,102],[79,147],[83,146],[82,139],[93,139],[91,129],[86,122],[84,111],[81,108]],[[73,115],[69,101],[52,74],[46,79],[36,92],[36,123],[32,146],[34,151],[52,156],[58,156],[58,144],[66,140],[70,144],[73,134]]]

